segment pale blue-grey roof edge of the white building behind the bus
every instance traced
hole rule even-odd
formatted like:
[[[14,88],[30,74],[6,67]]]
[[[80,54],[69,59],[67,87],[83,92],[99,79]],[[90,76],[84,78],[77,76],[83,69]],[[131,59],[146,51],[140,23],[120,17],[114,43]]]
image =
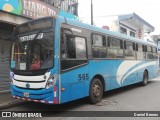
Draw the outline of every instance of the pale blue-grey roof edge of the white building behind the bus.
[[[148,32],[153,32],[155,30],[155,28],[151,24],[149,24],[147,21],[142,19],[136,13],[126,14],[126,15],[118,15],[118,20],[119,21],[133,20],[133,21],[141,24]]]

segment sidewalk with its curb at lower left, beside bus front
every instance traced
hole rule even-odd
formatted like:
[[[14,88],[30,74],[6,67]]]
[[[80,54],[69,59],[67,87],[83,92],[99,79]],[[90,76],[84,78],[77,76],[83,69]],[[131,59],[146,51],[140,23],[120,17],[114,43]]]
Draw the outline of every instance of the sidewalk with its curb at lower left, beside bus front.
[[[13,98],[10,95],[10,92],[0,93],[0,110],[20,105],[22,103],[25,103],[25,101]]]

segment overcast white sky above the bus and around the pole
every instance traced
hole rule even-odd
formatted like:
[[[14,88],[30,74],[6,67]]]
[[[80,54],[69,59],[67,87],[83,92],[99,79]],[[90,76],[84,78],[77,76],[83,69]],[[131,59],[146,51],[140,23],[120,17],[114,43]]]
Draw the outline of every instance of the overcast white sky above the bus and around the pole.
[[[90,2],[91,0],[79,0],[80,19],[90,19]],[[104,16],[134,12],[155,27],[154,34],[160,34],[159,0],[93,0],[93,8],[96,25],[102,24],[98,23],[98,19],[107,19]]]

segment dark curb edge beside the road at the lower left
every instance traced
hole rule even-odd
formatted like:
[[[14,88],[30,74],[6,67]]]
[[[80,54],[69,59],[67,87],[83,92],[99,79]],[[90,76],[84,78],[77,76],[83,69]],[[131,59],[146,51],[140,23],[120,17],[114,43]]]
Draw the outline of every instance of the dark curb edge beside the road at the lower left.
[[[10,108],[10,107],[14,107],[16,105],[20,105],[20,104],[23,104],[25,103],[24,101],[21,101],[21,100],[13,100],[13,101],[9,101],[9,102],[5,102],[5,103],[2,103],[0,104],[0,110],[2,109],[7,109],[7,108]]]

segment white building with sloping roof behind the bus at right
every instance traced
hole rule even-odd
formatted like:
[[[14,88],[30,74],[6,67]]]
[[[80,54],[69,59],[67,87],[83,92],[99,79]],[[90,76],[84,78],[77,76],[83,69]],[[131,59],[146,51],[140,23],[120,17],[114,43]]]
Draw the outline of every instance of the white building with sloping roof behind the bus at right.
[[[110,21],[107,21],[105,25],[109,27],[109,30],[139,39],[144,39],[146,34],[153,32],[155,29],[136,13],[109,16],[107,19],[110,19]]]

